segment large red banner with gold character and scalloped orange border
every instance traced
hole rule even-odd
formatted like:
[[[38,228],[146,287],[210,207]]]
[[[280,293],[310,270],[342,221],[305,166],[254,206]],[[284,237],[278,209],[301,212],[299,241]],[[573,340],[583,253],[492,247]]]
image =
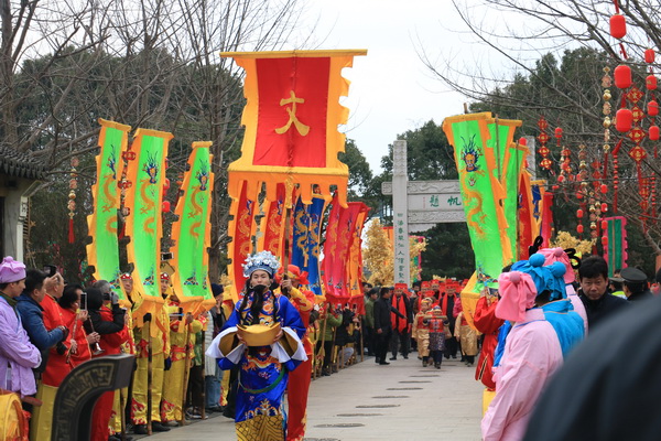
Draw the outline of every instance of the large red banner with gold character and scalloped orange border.
[[[364,50],[228,52],[246,71],[247,105],[241,158],[229,164],[229,195],[237,198],[242,182],[261,186],[275,200],[277,185],[297,185],[306,205],[313,187],[327,200],[337,185],[339,203],[346,206],[348,168],[337,154],[345,149],[348,109],[339,104],[349,83],[342,69],[350,67]],[[289,207],[289,204],[288,204]]]

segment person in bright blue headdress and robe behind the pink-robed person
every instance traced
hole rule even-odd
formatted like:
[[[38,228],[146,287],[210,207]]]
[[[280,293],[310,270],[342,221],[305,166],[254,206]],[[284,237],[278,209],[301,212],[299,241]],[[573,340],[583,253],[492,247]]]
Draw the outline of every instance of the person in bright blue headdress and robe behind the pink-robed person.
[[[561,262],[553,262],[544,267],[545,256],[539,252],[512,265],[512,271],[527,272],[532,277],[538,290],[535,305],[544,311],[544,316],[555,330],[562,355],[564,357],[585,336],[583,319],[572,302],[567,299],[564,283],[566,268]]]

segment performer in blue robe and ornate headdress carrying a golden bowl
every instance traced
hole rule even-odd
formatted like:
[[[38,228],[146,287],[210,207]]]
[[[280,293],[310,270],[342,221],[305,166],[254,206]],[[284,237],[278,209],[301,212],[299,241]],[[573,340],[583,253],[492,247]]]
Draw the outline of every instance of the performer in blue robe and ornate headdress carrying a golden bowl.
[[[221,369],[239,366],[235,417],[239,441],[286,439],[282,397],[288,373],[307,359],[299,311],[284,295],[272,291],[279,267],[269,251],[246,259],[243,298],[207,351]]]

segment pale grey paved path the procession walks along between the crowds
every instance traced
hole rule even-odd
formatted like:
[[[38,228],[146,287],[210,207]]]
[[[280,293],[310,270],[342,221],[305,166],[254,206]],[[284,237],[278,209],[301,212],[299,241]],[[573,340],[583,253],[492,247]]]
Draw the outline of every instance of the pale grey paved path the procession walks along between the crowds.
[[[312,383],[307,441],[452,440],[479,441],[481,384],[474,367],[444,361],[441,370],[423,368],[416,353],[390,366],[372,357]],[[206,421],[150,439],[236,440],[234,421]]]

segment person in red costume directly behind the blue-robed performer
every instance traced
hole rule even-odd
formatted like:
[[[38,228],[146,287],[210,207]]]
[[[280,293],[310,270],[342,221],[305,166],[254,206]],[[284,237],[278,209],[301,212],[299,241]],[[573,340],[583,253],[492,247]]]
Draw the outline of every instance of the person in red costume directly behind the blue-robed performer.
[[[278,272],[277,280],[279,282],[282,277],[282,267]],[[288,267],[288,278],[291,280],[291,288],[281,287],[275,290],[275,293],[281,289],[288,292],[288,297],[292,304],[296,308],[303,320],[303,325],[307,330],[310,326],[310,313],[314,308],[314,292],[300,289],[301,284],[307,284],[307,272],[301,272],[301,269],[295,265]],[[282,282],[281,282],[282,284]],[[286,385],[286,399],[289,402],[289,415],[286,424],[286,441],[302,441],[305,435],[306,408],[307,408],[307,391],[310,390],[310,381],[312,377],[312,343],[310,342],[307,330],[303,336],[303,347],[307,361],[301,363],[299,367],[289,374],[289,383]]]

